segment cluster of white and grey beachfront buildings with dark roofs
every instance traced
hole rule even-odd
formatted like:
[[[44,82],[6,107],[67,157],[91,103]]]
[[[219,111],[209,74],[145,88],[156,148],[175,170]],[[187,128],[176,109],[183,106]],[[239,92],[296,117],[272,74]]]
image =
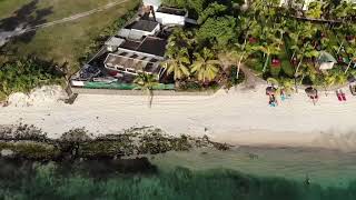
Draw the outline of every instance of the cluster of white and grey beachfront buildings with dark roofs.
[[[144,0],[139,18],[115,36],[101,50],[71,78],[75,87],[100,84],[105,88],[120,83],[132,83],[139,73],[156,74],[157,80],[170,83],[164,76],[167,38],[166,27],[185,26],[190,22],[184,9],[162,7],[158,0]],[[192,21],[194,22],[194,21]]]

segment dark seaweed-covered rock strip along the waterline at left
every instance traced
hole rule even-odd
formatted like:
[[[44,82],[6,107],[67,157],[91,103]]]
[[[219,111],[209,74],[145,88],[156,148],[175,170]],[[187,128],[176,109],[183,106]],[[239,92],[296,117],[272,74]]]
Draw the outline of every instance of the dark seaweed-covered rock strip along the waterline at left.
[[[17,132],[19,130],[19,132]],[[37,161],[78,159],[116,160],[123,156],[157,154],[167,151],[189,151],[210,147],[228,150],[226,143],[212,142],[208,137],[172,137],[162,130],[144,127],[123,130],[120,134],[90,137],[85,128],[65,132],[59,139],[49,139],[31,126],[0,130],[0,151],[11,150],[17,158]],[[4,151],[6,153],[7,151]]]

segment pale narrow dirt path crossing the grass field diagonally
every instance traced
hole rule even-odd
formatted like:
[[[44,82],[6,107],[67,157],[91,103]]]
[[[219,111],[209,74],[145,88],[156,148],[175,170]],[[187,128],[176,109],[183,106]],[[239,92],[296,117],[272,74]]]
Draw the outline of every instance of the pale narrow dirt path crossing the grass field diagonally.
[[[62,19],[55,20],[55,21],[51,21],[51,22],[41,23],[41,24],[38,24],[38,26],[33,26],[33,27],[26,27],[26,24],[20,24],[13,31],[1,31],[0,30],[0,47],[3,46],[4,43],[7,43],[9,41],[9,39],[12,38],[12,37],[17,37],[17,36],[23,34],[26,32],[34,31],[37,29],[41,29],[41,28],[46,28],[46,27],[52,27],[52,26],[56,26],[56,24],[70,22],[70,21],[73,21],[73,20],[77,20],[77,19],[80,19],[80,18],[85,18],[85,17],[88,17],[90,14],[108,10],[108,9],[115,7],[115,6],[122,4],[122,3],[127,2],[127,1],[128,0],[115,1],[115,2],[108,3],[106,6],[102,6],[102,7],[86,11],[86,12],[77,13],[77,14],[73,14],[73,16],[70,16],[70,17],[67,17],[67,18],[62,18]]]

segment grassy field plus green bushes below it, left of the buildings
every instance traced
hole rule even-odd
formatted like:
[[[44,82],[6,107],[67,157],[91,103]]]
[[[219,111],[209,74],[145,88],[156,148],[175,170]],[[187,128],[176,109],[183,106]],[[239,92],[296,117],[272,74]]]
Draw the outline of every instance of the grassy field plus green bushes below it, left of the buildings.
[[[0,1],[0,29],[12,30],[20,22],[33,26],[58,20],[109,2],[3,0]],[[70,76],[88,61],[108,37],[134,17],[138,4],[138,0],[123,2],[103,12],[24,33],[1,47],[0,101],[12,92],[27,93],[36,87],[63,83],[62,77]]]

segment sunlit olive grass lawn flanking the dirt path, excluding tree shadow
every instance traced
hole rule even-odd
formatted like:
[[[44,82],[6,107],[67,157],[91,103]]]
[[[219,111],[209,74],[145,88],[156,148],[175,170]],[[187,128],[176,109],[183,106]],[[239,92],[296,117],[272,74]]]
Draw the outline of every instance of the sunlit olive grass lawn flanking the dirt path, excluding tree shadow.
[[[28,2],[31,1],[0,0],[0,17],[10,17],[14,10]],[[88,11],[109,2],[113,2],[113,0],[39,0],[36,4],[36,10],[51,10],[51,13],[46,14],[43,19],[52,21]],[[60,63],[68,61],[71,70],[76,70],[79,67],[78,58],[85,53],[86,47],[106,27],[112,24],[138,3],[139,0],[130,0],[106,11],[97,12],[71,22],[39,29],[30,41],[14,40],[6,47],[6,51],[14,51],[17,56],[34,54],[47,60],[53,59]],[[36,11],[31,14],[36,16]]]

